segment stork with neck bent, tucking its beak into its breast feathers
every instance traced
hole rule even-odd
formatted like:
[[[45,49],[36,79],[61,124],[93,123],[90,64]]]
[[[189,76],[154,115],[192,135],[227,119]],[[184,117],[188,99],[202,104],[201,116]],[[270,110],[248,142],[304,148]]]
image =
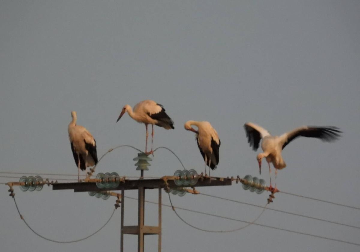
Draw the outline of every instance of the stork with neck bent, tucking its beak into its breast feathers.
[[[192,125],[196,126],[198,130],[193,129],[191,127]],[[196,142],[201,156],[205,161],[205,175],[206,166],[210,167],[211,170],[215,170],[219,164],[219,147],[221,144],[216,130],[211,126],[210,122],[206,121],[187,121],[184,124],[184,128],[185,130],[190,130],[196,133]]]

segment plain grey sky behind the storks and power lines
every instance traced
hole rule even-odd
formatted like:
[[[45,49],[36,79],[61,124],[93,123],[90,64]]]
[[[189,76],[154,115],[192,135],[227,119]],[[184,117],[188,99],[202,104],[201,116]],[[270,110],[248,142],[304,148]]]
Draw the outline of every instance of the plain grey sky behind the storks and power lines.
[[[144,149],[145,127],[125,115],[125,104],[153,99],[165,106],[175,130],[156,127],[154,146],[174,150],[186,168],[203,171],[187,120],[210,121],[221,139],[216,176],[258,176],[256,154],[243,124],[272,134],[301,125],[340,127],[333,144],[297,139],[284,149],[287,168],[278,188],[360,206],[360,3],[358,1],[1,1],[0,171],[77,173],[67,136],[71,110],[95,137],[98,154],[120,144]],[[119,149],[96,172],[138,175],[136,151]],[[149,176],[181,168],[158,150]],[[264,178],[269,175],[264,163]],[[44,176],[46,177],[46,176]],[[9,178],[0,178],[8,182]],[[18,180],[18,179],[14,179]],[[36,237],[19,218],[8,188],[0,185],[1,251],[118,251],[120,210],[91,239],[70,245]],[[200,188],[265,205],[240,185]],[[29,224],[46,237],[79,239],[110,216],[114,199],[87,193],[21,192],[16,199]],[[127,195],[135,196],[135,192]],[[156,192],[149,192],[154,199]],[[201,195],[173,197],[174,204],[252,221],[261,209]],[[163,202],[168,203],[163,193]],[[126,225],[135,224],[135,201],[125,204]],[[359,210],[278,194],[271,207],[360,226]],[[145,223],[155,225],[156,207]],[[179,211],[201,228],[228,230],[244,224]],[[358,229],[265,211],[258,223],[359,242]],[[11,228],[10,228],[11,226]],[[203,233],[163,209],[163,251],[359,251],[359,247],[259,226],[227,234]],[[156,251],[157,238],[145,249]],[[127,251],[136,238],[127,237]]]

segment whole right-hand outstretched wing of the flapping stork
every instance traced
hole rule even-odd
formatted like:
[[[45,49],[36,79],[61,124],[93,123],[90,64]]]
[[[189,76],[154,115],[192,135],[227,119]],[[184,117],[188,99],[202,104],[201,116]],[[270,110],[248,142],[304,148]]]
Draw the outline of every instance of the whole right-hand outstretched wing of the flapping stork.
[[[325,142],[332,142],[340,137],[339,133],[342,132],[338,127],[334,126],[302,126],[281,135],[280,139],[282,140],[282,148],[284,149],[286,145],[299,136],[305,136],[306,138],[319,138]]]

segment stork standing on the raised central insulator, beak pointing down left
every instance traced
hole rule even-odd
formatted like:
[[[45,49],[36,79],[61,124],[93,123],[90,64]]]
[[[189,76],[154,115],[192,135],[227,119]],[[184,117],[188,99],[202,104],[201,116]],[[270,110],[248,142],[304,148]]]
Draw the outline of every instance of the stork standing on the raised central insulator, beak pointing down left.
[[[153,100],[143,100],[135,105],[134,111],[130,105],[125,105],[120,113],[118,122],[123,114],[128,113],[129,116],[134,119],[136,122],[144,123],[146,128],[146,140],[145,140],[145,153],[153,153],[153,138],[154,138],[154,125],[163,127],[164,129],[170,130],[174,129],[174,122],[171,118],[165,113],[165,108],[163,105],[154,102]],[[148,152],[148,124],[151,124],[151,150]]]

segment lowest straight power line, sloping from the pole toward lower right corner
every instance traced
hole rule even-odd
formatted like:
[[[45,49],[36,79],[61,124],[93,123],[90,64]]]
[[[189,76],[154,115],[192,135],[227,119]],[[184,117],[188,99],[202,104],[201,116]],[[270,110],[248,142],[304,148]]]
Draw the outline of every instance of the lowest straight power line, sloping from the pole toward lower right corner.
[[[125,198],[138,200],[138,198],[133,198],[133,197],[129,197],[129,196],[125,196]],[[151,203],[151,204],[158,204],[157,202],[153,202],[153,201],[145,201],[145,202]],[[171,208],[172,208],[172,206],[167,205],[167,204],[161,204],[161,205],[162,205],[162,206],[165,206],[165,207],[171,207]],[[235,218],[231,218],[231,217],[226,217],[226,216],[216,215],[216,214],[212,214],[212,213],[201,212],[201,211],[192,210],[192,209],[188,209],[188,208],[184,208],[184,207],[175,207],[175,206],[174,206],[174,208],[179,209],[179,210],[188,211],[188,212],[199,213],[199,214],[202,214],[202,215],[217,217],[217,218],[225,219],[225,220],[232,220],[232,221],[238,221],[238,222],[244,222],[244,223],[251,223],[251,222],[249,222],[249,221],[243,221],[243,220],[239,220],[239,219],[235,219]],[[310,236],[310,237],[321,238],[321,239],[325,239],[325,240],[332,240],[332,241],[335,241],[335,242],[342,242],[342,243],[347,243],[347,244],[352,244],[352,245],[360,246],[360,243],[347,242],[347,241],[345,241],[345,240],[333,239],[333,238],[328,238],[328,237],[324,237],[324,236],[320,236],[320,235],[314,235],[314,234],[309,234],[309,233],[303,233],[303,232],[299,232],[299,231],[294,231],[294,230],[290,230],[290,229],[277,228],[277,227],[274,227],[274,226],[269,226],[269,225],[264,225],[264,224],[258,224],[258,223],[252,223],[252,225],[262,226],[262,227],[265,227],[265,228],[282,230],[282,231],[286,231],[286,232],[290,232],[290,233],[302,234],[302,235],[307,235],[307,236]]]

